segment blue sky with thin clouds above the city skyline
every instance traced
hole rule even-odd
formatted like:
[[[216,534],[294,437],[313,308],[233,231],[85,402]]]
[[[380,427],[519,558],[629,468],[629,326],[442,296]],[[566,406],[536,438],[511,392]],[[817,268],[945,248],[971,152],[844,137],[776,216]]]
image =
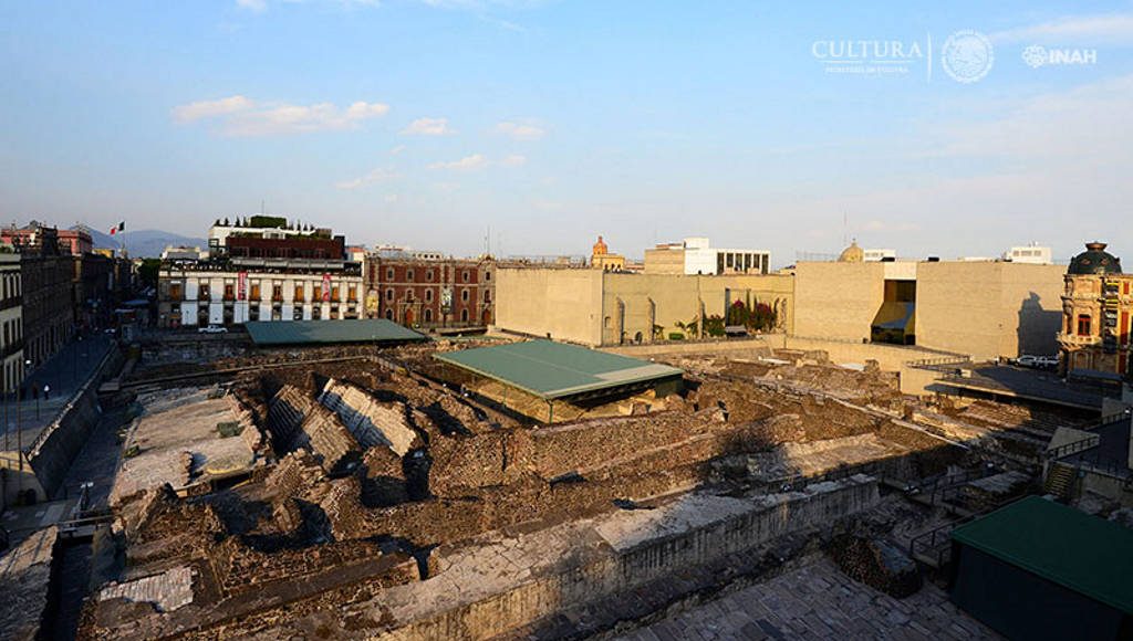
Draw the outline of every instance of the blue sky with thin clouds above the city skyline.
[[[5,224],[1133,263],[1131,2],[6,0],[0,83]]]

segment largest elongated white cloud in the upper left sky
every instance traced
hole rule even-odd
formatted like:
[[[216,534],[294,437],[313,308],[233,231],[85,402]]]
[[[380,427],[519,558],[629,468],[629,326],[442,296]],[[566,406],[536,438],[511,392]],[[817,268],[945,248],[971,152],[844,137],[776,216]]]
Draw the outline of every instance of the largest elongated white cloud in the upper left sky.
[[[194,122],[215,120],[225,136],[272,136],[356,129],[365,120],[380,118],[390,105],[355,102],[346,109],[321,102],[310,105],[280,102],[257,103],[237,95],[216,101],[199,101],[174,106],[173,120]]]

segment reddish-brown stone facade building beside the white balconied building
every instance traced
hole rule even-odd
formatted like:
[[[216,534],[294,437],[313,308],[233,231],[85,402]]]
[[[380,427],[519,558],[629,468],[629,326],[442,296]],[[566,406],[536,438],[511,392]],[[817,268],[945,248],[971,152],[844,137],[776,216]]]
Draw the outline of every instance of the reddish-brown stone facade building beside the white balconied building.
[[[374,253],[366,260],[366,317],[414,327],[483,327],[495,314],[495,260],[421,259]]]

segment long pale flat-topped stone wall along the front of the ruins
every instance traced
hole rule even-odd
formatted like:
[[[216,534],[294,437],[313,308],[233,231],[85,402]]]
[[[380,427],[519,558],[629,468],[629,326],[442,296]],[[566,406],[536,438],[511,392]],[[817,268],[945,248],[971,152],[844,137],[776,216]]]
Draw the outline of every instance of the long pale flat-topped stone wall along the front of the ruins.
[[[417,641],[505,635],[566,605],[632,590],[782,535],[816,525],[828,528],[838,519],[872,507],[877,502],[877,481],[858,476],[840,482],[816,484],[800,493],[749,499],[697,494],[682,497],[667,508],[620,512],[596,520],[588,537],[591,540],[600,537],[596,542],[583,549],[578,547],[581,541],[576,540],[569,556],[547,561],[553,564],[551,567],[531,567],[533,579],[444,612],[403,621],[382,639]],[[411,604],[420,590],[420,584],[393,589],[401,592],[391,595],[387,601],[394,609],[394,617],[398,604]],[[458,595],[453,597],[459,598]]]

